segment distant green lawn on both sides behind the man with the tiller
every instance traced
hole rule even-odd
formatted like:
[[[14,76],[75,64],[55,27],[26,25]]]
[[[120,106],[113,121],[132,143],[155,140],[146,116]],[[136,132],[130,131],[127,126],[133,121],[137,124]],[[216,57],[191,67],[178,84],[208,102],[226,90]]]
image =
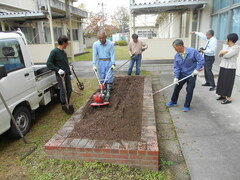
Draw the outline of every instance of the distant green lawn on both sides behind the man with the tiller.
[[[85,49],[90,53],[78,55],[75,57],[76,61],[91,61],[92,60],[92,48]],[[115,46],[115,59],[116,60],[127,60],[129,59],[128,46]]]

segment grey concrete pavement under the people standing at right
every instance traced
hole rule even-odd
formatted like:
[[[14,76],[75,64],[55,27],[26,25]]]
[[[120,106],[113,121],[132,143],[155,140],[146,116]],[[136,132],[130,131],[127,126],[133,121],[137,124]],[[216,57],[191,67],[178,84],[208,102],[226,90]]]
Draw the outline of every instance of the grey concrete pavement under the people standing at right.
[[[170,66],[161,66],[163,86],[172,82]],[[182,89],[177,107],[169,108],[177,136],[193,180],[240,179],[240,92],[238,82],[233,102],[222,105],[215,92],[203,87],[204,78],[197,84],[189,112],[182,112],[186,90]],[[164,95],[170,100],[173,87]]]

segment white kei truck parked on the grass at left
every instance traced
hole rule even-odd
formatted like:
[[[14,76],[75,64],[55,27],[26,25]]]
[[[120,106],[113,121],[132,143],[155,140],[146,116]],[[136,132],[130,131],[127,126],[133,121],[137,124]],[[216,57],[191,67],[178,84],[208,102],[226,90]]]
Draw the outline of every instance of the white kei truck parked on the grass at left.
[[[35,118],[34,111],[40,105],[47,105],[58,92],[55,73],[46,65],[33,64],[20,30],[0,32],[0,92],[24,135]],[[0,99],[0,135],[4,132],[20,137]]]

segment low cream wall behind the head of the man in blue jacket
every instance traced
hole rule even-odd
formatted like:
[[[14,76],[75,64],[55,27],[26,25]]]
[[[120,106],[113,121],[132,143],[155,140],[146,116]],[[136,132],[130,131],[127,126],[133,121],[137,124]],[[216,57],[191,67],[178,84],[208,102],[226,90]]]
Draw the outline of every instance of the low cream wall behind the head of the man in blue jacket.
[[[173,59],[176,51],[172,47],[172,42],[176,38],[162,39],[141,39],[147,43],[148,49],[143,52],[144,60],[151,59]],[[188,38],[182,38],[186,47],[188,47]]]

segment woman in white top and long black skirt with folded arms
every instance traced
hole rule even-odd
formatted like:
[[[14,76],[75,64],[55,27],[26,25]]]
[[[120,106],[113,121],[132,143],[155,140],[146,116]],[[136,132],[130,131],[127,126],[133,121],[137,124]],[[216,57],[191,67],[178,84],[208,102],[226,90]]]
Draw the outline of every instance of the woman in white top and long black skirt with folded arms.
[[[217,100],[223,100],[221,104],[232,102],[231,95],[236,75],[237,58],[240,51],[240,46],[236,44],[237,41],[238,35],[236,33],[228,34],[227,47],[219,53],[222,59],[216,93],[219,95]]]

